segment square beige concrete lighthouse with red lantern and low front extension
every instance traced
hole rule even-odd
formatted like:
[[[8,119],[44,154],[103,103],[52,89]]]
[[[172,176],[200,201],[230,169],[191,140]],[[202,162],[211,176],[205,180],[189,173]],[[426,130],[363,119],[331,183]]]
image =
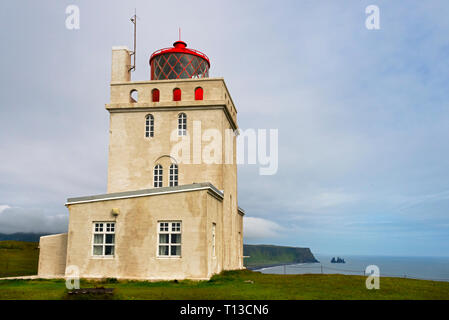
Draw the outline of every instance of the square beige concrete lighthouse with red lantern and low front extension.
[[[85,278],[209,279],[242,269],[237,110],[224,79],[178,40],[149,54],[149,79],[135,81],[133,53],[112,49],[107,193],[67,199],[68,232],[41,238],[39,275],[75,266]],[[221,139],[214,161],[203,157],[207,132]]]

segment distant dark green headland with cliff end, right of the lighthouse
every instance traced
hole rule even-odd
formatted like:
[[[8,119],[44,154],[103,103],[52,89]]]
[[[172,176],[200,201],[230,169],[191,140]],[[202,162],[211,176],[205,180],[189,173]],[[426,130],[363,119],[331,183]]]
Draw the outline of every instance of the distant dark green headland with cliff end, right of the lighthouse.
[[[255,269],[281,264],[318,262],[309,248],[273,245],[243,245],[245,267]]]

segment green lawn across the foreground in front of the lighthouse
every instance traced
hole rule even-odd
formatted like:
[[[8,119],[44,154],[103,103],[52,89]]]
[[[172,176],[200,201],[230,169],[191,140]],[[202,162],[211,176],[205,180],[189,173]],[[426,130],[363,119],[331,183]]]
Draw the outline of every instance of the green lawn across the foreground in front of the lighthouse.
[[[0,299],[449,299],[449,283],[381,278],[367,290],[365,277],[347,275],[268,275],[227,271],[210,281],[81,281],[81,288],[115,288],[114,295],[69,296],[63,280],[3,280]]]

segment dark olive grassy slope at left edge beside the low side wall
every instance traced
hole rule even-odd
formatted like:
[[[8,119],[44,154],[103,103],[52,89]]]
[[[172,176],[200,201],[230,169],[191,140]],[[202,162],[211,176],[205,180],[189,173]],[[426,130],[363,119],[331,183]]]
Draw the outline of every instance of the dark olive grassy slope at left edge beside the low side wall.
[[[37,274],[37,242],[0,241],[0,278]]]

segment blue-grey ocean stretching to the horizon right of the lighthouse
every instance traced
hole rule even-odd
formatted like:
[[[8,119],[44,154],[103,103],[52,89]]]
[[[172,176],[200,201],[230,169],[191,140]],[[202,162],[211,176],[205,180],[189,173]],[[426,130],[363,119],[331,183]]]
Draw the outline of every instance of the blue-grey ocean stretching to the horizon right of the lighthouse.
[[[379,267],[381,277],[401,277],[435,281],[449,281],[449,257],[388,257],[388,256],[340,256],[346,263],[331,263],[333,256],[315,254],[320,263],[300,263],[258,269],[274,274],[350,274],[365,275],[369,265]],[[337,258],[337,256],[335,256]]]

